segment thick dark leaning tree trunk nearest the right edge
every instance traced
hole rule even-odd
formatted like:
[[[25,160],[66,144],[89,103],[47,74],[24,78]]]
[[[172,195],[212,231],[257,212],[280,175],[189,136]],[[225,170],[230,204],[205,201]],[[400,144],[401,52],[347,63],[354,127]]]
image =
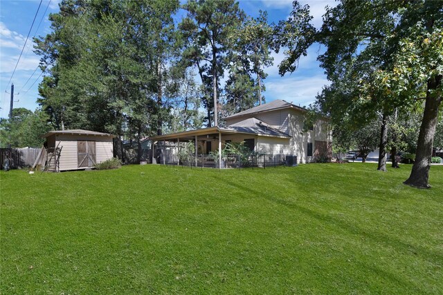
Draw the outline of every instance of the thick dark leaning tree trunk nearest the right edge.
[[[442,76],[428,80],[426,91],[426,105],[424,106],[422,126],[417,141],[415,162],[410,176],[404,184],[417,188],[430,188],[428,184],[429,168],[431,168],[432,145],[434,141],[435,126],[438,120],[438,109],[442,102],[442,93],[437,87],[442,82]]]

